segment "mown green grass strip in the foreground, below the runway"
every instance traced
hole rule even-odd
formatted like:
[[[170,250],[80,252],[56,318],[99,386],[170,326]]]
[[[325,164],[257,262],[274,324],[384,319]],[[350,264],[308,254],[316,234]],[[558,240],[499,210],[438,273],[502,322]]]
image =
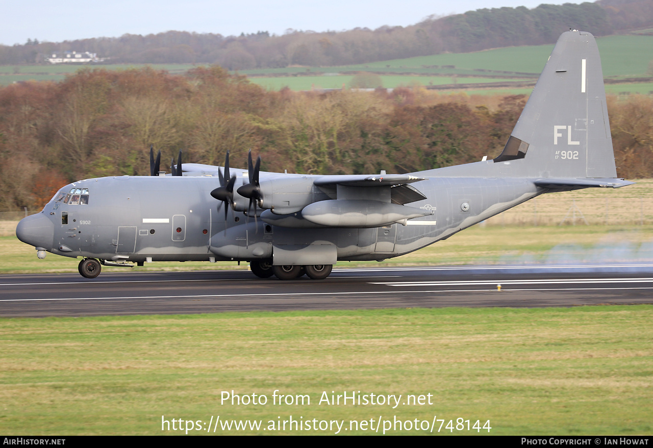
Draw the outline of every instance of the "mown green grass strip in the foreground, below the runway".
[[[652,319],[650,305],[0,319],[0,432],[162,434],[162,415],[264,426],[437,415],[490,420],[490,434],[651,434]],[[311,403],[274,406],[275,390]],[[269,401],[221,404],[223,391]],[[323,391],[433,404],[319,405]],[[251,432],[270,434],[238,434]]]

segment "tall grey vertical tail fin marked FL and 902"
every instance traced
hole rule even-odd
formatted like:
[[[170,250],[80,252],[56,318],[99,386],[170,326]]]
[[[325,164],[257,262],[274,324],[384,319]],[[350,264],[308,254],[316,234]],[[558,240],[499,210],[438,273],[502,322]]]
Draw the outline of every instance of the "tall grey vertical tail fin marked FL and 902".
[[[616,178],[594,36],[562,33],[494,164],[515,177]]]

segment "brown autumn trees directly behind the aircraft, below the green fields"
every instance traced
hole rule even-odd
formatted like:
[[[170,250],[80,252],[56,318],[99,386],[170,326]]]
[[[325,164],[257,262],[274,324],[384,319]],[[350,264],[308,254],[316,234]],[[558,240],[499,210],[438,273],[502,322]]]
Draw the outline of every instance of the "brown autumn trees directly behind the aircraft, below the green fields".
[[[0,209],[46,203],[62,185],[148,175],[184,161],[308,174],[413,172],[498,155],[524,95],[468,97],[423,88],[265,91],[221,67],[186,75],[150,68],[86,69],[62,82],[0,88]],[[653,97],[608,102],[618,175],[653,176]],[[169,168],[168,168],[169,171]],[[217,182],[217,180],[216,180]]]

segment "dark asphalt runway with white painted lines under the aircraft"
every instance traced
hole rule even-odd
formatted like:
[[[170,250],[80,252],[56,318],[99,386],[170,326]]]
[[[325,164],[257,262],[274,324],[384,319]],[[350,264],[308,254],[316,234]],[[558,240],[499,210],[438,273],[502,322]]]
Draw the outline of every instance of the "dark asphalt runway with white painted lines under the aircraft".
[[[643,303],[653,264],[334,269],[290,281],[246,270],[0,276],[3,317]]]

